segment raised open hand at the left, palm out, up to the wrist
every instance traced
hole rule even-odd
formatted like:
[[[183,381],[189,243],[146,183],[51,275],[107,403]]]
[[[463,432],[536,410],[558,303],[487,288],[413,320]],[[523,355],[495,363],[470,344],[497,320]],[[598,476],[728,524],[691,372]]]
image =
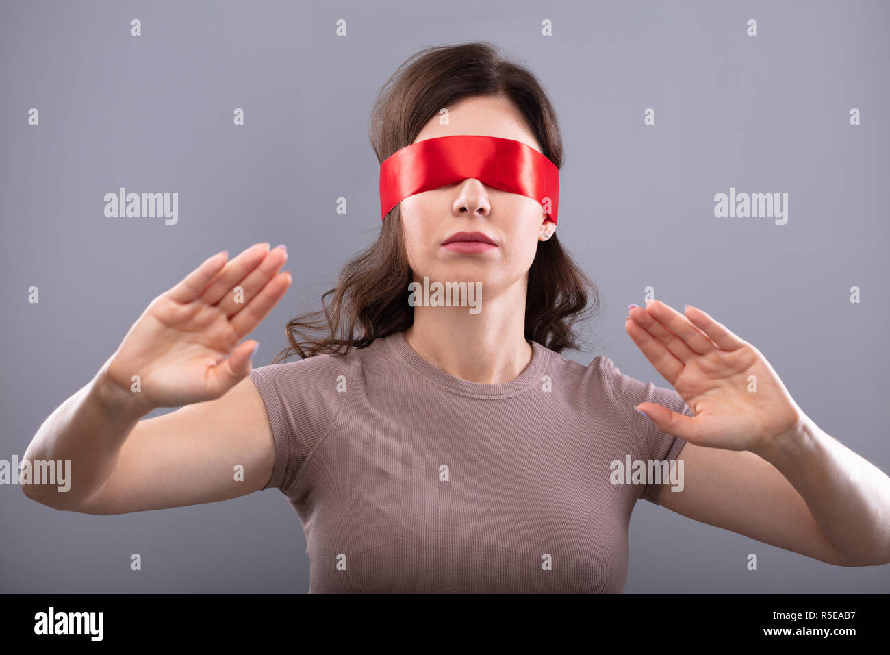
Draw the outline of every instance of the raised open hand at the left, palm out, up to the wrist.
[[[152,300],[101,371],[117,397],[148,413],[222,397],[247,377],[259,344],[239,341],[287,292],[286,260],[268,243],[231,261],[220,252]]]

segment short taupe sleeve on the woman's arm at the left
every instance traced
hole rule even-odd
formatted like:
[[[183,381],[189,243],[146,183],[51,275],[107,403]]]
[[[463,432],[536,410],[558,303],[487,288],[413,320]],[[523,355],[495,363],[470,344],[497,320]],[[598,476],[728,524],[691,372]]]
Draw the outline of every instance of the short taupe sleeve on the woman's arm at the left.
[[[343,410],[352,386],[350,363],[343,355],[317,355],[250,372],[275,445],[271,479],[263,489],[277,487],[287,494],[302,478]]]

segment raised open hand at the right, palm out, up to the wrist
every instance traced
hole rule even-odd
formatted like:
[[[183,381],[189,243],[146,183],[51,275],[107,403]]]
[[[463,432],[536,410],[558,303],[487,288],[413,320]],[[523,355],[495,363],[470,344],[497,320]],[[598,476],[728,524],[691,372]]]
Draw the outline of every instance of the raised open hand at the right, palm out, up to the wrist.
[[[696,446],[750,450],[800,430],[806,417],[759,350],[705,312],[659,300],[630,307],[625,329],[695,416],[640,403],[655,426]]]

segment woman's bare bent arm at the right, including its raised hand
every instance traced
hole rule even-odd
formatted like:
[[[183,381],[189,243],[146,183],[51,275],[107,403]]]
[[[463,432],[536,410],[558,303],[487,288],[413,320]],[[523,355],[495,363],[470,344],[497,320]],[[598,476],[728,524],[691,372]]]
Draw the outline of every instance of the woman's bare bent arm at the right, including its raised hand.
[[[840,566],[890,563],[890,478],[822,431],[766,358],[692,306],[630,307],[625,327],[694,416],[637,405],[684,438],[684,487],[659,504]]]

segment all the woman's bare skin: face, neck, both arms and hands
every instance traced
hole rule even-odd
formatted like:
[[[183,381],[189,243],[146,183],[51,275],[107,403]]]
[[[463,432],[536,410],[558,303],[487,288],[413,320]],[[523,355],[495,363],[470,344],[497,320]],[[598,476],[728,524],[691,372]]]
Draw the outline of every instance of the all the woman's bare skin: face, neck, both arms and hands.
[[[467,98],[449,125],[417,140],[467,134],[512,138],[540,151],[514,107]],[[415,307],[411,348],[446,373],[503,383],[530,363],[523,309],[538,242],[554,224],[537,202],[467,179],[401,203],[415,280],[481,282],[482,311]],[[486,233],[497,248],[460,254],[441,242]],[[61,510],[141,512],[251,493],[271,477],[274,449],[262,398],[247,378],[256,342],[241,341],[287,292],[281,248],[255,244],[237,258],[208,258],[158,296],[93,380],[37,431],[24,458],[69,459],[72,487],[22,486]],[[245,303],[233,301],[244,288]],[[684,490],[664,487],[673,512],[841,566],[890,562],[890,479],[819,429],[751,344],[696,307],[658,300],[629,308],[628,336],[695,415],[643,403],[659,430],[686,439]],[[139,374],[142,391],[131,389]],[[755,375],[758,390],[748,392]],[[188,403],[188,404],[187,404]],[[144,416],[158,406],[186,405]],[[232,480],[232,463],[245,480]]]

